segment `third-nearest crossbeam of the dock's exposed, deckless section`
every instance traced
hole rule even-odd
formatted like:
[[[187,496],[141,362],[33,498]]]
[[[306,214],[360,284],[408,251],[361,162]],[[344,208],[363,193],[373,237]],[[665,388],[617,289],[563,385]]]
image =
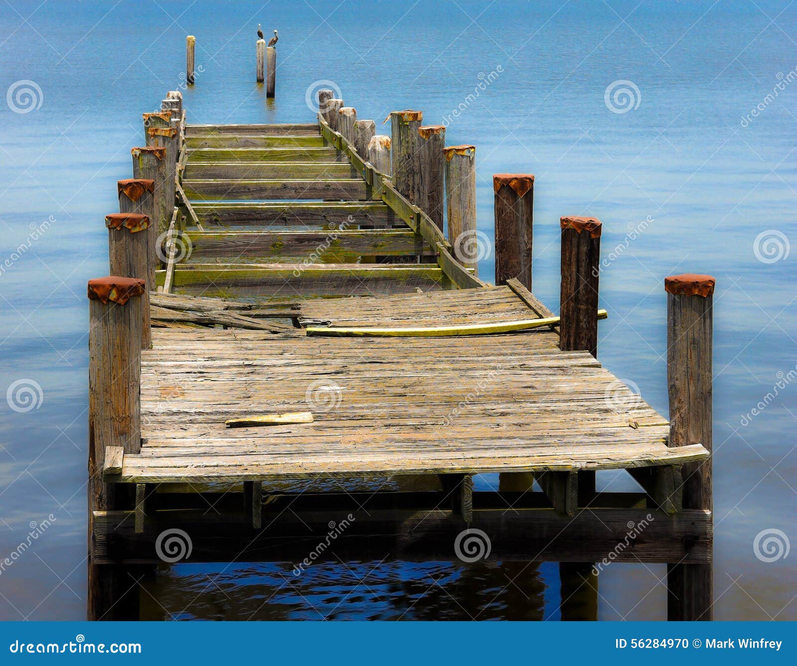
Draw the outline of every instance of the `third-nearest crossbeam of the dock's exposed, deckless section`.
[[[386,227],[402,223],[382,202],[195,203],[203,225],[283,225],[325,227],[368,225]]]

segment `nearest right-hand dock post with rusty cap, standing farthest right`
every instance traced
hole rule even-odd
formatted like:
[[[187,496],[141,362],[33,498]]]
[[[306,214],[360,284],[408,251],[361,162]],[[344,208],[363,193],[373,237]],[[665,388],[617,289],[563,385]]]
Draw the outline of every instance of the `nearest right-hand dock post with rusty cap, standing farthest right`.
[[[713,293],[709,275],[687,273],[664,280],[667,292],[669,446],[702,444],[712,450]],[[713,510],[712,459],[684,464],[683,507]],[[667,566],[667,619],[713,617],[711,564]]]

